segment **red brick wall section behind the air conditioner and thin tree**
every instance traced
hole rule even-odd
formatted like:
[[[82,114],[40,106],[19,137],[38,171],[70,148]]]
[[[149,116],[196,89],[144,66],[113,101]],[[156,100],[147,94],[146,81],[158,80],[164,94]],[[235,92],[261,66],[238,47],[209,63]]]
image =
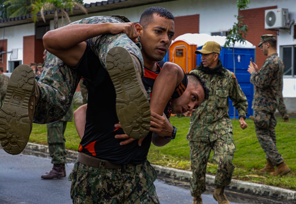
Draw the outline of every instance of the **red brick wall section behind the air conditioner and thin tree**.
[[[260,42],[260,36],[265,34],[276,35],[276,31],[265,30],[265,10],[276,9],[277,6],[263,7],[257,9],[246,9],[239,12],[239,15],[244,16],[244,24],[248,25],[248,34],[246,40],[256,46],[255,63],[259,68],[263,65],[267,56],[264,56],[261,49],[257,47]]]

